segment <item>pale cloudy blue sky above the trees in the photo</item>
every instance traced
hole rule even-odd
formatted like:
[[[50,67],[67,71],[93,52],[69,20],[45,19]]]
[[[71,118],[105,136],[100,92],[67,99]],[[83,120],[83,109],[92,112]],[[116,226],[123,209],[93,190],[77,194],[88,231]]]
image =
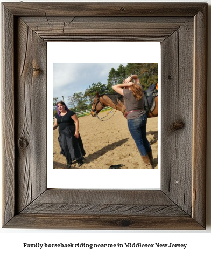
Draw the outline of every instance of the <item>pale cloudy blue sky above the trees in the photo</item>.
[[[68,103],[68,96],[85,92],[89,85],[101,82],[107,84],[111,68],[117,69],[127,63],[53,63],[53,98]],[[68,104],[67,104],[68,105]]]

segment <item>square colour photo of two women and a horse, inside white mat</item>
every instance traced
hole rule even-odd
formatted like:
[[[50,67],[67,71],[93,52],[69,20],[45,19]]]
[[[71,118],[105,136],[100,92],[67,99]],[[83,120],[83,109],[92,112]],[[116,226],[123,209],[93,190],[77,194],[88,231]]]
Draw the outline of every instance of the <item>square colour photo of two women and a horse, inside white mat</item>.
[[[158,63],[53,63],[53,169],[79,168],[158,169]]]

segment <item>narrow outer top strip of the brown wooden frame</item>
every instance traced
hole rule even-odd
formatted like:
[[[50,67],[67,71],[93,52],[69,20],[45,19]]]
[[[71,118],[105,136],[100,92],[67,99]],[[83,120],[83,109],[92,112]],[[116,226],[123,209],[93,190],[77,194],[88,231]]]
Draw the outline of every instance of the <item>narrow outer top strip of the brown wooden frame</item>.
[[[192,17],[205,3],[3,3],[17,16]],[[132,15],[131,15],[132,14]]]

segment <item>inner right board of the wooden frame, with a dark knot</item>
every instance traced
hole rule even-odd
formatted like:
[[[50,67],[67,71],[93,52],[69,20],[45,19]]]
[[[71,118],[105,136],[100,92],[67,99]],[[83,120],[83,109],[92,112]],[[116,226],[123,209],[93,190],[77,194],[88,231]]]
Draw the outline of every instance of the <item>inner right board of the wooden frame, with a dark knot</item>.
[[[161,56],[161,187],[191,215],[193,24],[181,26],[168,37],[161,44]],[[178,123],[182,128],[173,129]]]

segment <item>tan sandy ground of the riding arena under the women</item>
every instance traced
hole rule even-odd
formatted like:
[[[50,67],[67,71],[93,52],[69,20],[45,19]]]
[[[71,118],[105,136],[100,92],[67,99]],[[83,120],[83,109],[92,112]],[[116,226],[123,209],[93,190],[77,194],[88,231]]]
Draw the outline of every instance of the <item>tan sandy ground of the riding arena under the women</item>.
[[[107,113],[100,112],[99,117]],[[145,169],[122,112],[111,112],[103,120],[92,116],[79,118],[79,132],[86,155],[81,167],[76,167],[74,161],[71,169],[109,169],[117,164],[124,165],[121,169]],[[154,169],[158,169],[158,117],[147,119],[146,131],[156,162]],[[53,131],[53,169],[67,169],[66,159],[60,154],[58,129]]]

